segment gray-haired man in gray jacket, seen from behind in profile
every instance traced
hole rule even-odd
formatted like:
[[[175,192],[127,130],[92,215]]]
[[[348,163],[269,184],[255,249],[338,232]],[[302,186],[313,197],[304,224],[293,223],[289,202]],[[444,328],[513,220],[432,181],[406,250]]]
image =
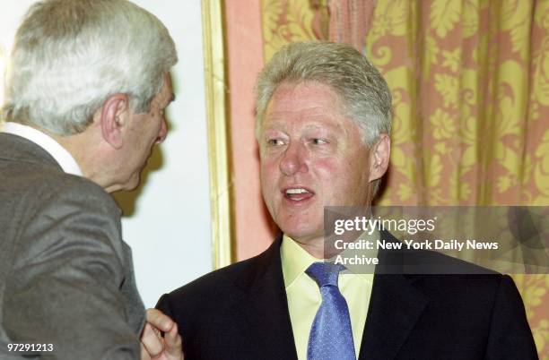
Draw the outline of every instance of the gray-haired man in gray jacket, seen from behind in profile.
[[[161,21],[126,0],[26,13],[0,133],[0,358],[181,358],[177,326],[145,313],[109,196],[166,137],[176,63]]]

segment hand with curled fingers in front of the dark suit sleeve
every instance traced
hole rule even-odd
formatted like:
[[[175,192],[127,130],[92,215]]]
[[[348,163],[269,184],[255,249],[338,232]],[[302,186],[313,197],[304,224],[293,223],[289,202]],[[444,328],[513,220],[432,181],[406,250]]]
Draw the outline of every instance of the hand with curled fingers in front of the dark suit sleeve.
[[[141,334],[141,360],[183,360],[178,324],[160,310],[147,309],[147,321]]]

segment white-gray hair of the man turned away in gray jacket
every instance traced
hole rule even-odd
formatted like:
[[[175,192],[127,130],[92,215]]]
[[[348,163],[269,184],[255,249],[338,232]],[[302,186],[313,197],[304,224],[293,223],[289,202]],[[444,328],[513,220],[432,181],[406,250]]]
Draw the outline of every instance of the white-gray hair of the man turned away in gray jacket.
[[[148,111],[178,61],[153,14],[126,0],[45,0],[30,6],[6,73],[5,121],[70,135],[116,93]]]

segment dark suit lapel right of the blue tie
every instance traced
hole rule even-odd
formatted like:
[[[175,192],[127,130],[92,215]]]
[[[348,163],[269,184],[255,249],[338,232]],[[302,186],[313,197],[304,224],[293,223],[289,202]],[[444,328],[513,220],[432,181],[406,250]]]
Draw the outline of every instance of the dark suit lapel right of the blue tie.
[[[379,253],[379,262],[386,256],[390,264],[402,263],[397,259],[402,258],[399,252]],[[429,302],[412,284],[414,277],[392,272],[374,276],[359,360],[393,359]]]

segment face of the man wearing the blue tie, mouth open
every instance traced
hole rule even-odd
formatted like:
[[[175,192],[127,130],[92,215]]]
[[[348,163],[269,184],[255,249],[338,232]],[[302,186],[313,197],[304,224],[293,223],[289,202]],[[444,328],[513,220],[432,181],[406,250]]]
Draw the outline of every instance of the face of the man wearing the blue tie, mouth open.
[[[370,151],[327,85],[283,83],[259,133],[261,188],[283,232],[299,242],[323,236],[325,206],[371,201]]]

